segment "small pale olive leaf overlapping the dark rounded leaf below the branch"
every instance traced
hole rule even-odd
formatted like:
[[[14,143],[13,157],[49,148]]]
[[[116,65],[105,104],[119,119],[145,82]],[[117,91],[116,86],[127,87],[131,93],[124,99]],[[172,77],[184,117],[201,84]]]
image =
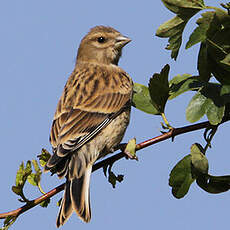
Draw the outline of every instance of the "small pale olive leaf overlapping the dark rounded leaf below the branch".
[[[203,147],[198,143],[193,144],[190,154],[195,176],[208,174],[208,159],[204,155]]]

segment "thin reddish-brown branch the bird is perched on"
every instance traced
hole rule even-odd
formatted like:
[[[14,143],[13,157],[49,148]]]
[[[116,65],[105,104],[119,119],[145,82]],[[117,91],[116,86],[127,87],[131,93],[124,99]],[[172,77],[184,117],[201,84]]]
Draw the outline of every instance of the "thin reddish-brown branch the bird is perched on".
[[[230,117],[225,117],[221,124],[226,122],[226,121],[229,121],[230,120]],[[188,125],[188,126],[184,126],[184,127],[180,127],[180,128],[174,128],[172,130],[170,130],[169,132],[166,132],[160,136],[157,136],[157,137],[154,137],[152,139],[149,139],[149,140],[146,140],[144,142],[141,142],[139,144],[136,145],[136,150],[141,150],[143,148],[146,148],[150,145],[153,145],[153,144],[156,144],[158,142],[161,142],[161,141],[164,141],[164,140],[167,140],[169,138],[173,138],[175,136],[178,136],[180,134],[184,134],[184,133],[188,133],[188,132],[192,132],[192,131],[196,131],[196,130],[200,130],[200,129],[204,129],[204,128],[214,128],[216,126],[213,126],[211,125],[208,121],[206,122],[201,122],[201,123],[198,123],[198,124],[195,124],[195,125]],[[100,168],[103,168],[105,165],[111,165],[113,164],[115,161],[118,161],[120,160],[121,158],[125,157],[126,155],[123,153],[123,152],[120,152],[118,154],[115,154],[111,157],[108,157],[107,159],[105,160],[102,160],[98,163],[96,163],[94,166],[93,166],[93,172],[100,169]],[[27,210],[37,206],[38,204],[40,204],[41,202],[43,202],[44,200],[48,199],[48,198],[51,198],[53,197],[54,195],[56,195],[57,193],[61,192],[62,190],[64,190],[65,188],[65,183],[57,186],[56,188],[52,189],[51,191],[47,192],[46,194],[40,196],[39,198],[36,198],[30,202],[28,202],[27,204],[25,204],[24,206],[16,209],[16,210],[13,210],[13,211],[10,211],[10,212],[5,212],[5,213],[0,213],[0,219],[4,219],[8,216],[13,216],[13,217],[18,217],[20,214],[26,212]]]

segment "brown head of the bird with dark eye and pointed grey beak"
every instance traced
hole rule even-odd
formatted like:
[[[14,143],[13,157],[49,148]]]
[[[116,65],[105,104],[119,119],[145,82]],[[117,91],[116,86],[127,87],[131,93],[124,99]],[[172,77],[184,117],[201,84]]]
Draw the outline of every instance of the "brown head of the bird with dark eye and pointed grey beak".
[[[111,27],[96,26],[82,39],[77,62],[117,65],[122,48],[130,41],[130,38]]]

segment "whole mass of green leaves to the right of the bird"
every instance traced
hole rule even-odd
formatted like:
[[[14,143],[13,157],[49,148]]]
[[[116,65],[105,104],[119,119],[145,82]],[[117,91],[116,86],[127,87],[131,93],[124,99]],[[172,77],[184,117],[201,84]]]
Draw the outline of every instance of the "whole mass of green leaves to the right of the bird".
[[[197,75],[178,74],[169,80],[169,65],[149,79],[148,86],[134,85],[133,106],[152,115],[161,115],[162,127],[173,129],[165,116],[165,107],[170,100],[192,91],[186,108],[186,119],[193,123],[204,115],[213,128],[204,131],[206,146],[192,144],[190,154],[176,164],[170,174],[169,185],[176,198],[184,197],[190,185],[197,185],[209,193],[229,190],[230,176],[208,174],[206,152],[218,125],[230,112],[230,3],[221,8],[206,6],[203,0],[162,0],[175,17],[159,26],[156,35],[168,38],[166,49],[171,50],[171,58],[176,60],[181,48],[183,31],[191,18],[199,13],[197,27],[191,32],[185,48],[199,44],[197,54]],[[211,9],[211,11],[206,11]],[[207,133],[209,133],[207,135]]]

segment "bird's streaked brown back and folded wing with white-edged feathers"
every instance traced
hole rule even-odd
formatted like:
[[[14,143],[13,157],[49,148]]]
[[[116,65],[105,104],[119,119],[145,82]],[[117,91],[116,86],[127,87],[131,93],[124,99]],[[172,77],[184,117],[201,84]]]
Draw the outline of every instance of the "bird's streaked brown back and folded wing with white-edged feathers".
[[[80,148],[105,127],[132,96],[132,81],[118,67],[76,68],[66,83],[51,129],[58,157]]]

